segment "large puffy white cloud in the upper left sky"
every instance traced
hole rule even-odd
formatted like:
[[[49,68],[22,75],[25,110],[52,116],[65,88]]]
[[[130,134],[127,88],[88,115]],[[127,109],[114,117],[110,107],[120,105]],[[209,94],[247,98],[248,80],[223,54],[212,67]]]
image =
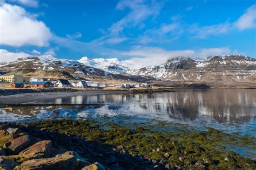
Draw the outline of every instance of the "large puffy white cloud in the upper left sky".
[[[0,6],[0,44],[10,46],[47,46],[52,34],[40,22],[17,5]]]

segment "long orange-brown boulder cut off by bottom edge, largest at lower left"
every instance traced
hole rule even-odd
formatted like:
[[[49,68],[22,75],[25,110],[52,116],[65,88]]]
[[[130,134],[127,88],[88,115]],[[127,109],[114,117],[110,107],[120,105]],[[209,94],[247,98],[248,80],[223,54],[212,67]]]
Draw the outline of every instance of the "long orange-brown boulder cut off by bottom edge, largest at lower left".
[[[76,158],[66,152],[63,154],[58,154],[53,158],[41,158],[41,159],[31,159],[24,161],[20,166],[16,166],[15,169],[63,169],[71,170],[76,169]]]

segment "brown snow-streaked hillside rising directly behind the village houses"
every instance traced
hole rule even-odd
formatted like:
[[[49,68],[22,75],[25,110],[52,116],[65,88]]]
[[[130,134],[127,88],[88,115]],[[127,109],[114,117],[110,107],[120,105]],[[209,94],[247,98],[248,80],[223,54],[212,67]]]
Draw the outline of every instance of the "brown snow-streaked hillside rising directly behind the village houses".
[[[91,62],[90,65],[92,65]],[[14,62],[1,65],[0,69],[8,70],[10,74],[15,73],[29,77],[86,79],[100,82],[147,81],[147,79],[140,75],[112,74],[92,66],[77,60],[57,59],[50,55],[42,55],[19,58]]]

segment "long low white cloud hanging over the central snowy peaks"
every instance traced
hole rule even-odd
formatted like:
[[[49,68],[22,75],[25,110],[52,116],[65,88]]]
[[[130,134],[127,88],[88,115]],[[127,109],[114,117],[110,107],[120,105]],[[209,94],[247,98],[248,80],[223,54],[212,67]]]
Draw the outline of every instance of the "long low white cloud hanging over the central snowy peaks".
[[[222,48],[202,48],[198,50],[185,49],[177,51],[167,51],[157,47],[136,46],[129,52],[122,52],[121,55],[132,56],[130,59],[136,65],[152,66],[165,63],[167,60],[178,57],[190,57],[192,59],[205,59],[213,55],[231,54],[231,50],[227,47]]]

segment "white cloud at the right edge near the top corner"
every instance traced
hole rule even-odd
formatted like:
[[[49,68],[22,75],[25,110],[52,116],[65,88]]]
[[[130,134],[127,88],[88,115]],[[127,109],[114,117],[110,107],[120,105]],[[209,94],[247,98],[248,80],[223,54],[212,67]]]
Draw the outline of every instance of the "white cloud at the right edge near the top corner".
[[[240,30],[252,29],[256,27],[256,4],[252,5],[246,12],[234,23],[234,26]]]

